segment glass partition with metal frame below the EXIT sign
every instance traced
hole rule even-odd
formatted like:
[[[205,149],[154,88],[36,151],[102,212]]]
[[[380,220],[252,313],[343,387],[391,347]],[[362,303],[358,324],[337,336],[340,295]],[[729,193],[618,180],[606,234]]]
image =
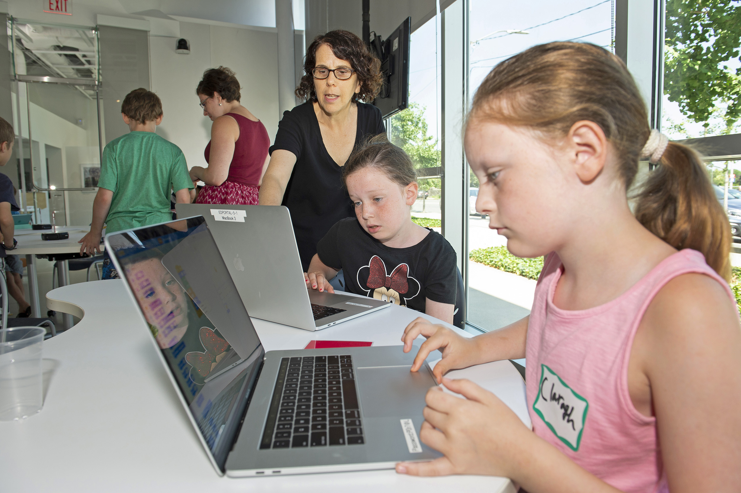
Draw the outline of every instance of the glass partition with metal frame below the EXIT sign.
[[[16,170],[4,171],[34,222],[90,224],[102,154],[98,33],[8,19],[8,35],[18,143]]]

